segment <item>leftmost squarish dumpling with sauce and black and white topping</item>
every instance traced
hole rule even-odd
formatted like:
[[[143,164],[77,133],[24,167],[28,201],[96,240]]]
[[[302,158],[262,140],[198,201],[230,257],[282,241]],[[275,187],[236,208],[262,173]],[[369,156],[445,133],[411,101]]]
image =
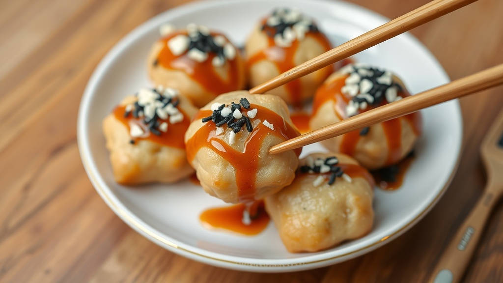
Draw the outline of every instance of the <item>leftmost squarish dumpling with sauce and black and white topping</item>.
[[[184,135],[196,112],[171,88],[140,89],[126,97],[103,121],[115,180],[173,183],[192,174]]]

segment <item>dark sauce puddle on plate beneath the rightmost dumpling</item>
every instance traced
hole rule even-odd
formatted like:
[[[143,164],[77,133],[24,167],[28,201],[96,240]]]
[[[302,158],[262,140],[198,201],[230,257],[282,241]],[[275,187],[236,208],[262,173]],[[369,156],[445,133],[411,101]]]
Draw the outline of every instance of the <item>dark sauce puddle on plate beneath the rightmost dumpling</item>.
[[[403,178],[407,172],[410,164],[414,160],[413,157],[408,156],[396,165],[386,167],[383,169],[372,171],[372,175],[376,180],[376,184],[383,190],[396,190],[401,187]]]

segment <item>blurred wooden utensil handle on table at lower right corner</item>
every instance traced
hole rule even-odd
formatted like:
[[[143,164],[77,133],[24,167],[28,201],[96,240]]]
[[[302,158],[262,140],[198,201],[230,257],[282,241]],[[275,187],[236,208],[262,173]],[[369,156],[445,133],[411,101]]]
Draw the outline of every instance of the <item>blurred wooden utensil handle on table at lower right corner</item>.
[[[490,182],[486,185],[482,197],[444,250],[429,282],[447,283],[461,280],[483,232],[492,206],[498,199],[497,194],[494,193],[496,185],[499,184]]]

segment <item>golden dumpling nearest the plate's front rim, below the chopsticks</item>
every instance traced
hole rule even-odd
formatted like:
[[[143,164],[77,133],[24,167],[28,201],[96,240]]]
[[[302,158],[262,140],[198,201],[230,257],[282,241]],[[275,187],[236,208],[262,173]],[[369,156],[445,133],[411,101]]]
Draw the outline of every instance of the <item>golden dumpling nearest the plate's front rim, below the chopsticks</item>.
[[[354,159],[311,154],[294,181],[265,199],[266,210],[289,252],[316,252],[372,229],[374,179]]]

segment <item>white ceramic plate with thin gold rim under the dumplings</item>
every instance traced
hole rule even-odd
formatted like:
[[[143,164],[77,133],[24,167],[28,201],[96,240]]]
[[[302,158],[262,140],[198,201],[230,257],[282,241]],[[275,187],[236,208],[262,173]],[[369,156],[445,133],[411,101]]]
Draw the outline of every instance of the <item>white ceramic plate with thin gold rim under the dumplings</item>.
[[[158,27],[195,22],[225,32],[242,45],[253,25],[276,7],[298,7],[317,20],[335,44],[341,44],[387,19],[344,2],[313,0],[232,0],[200,2],[166,11],[123,38],[96,68],[82,97],[78,114],[78,146],[83,165],[96,190],[130,227],[154,243],[180,255],[226,268],[279,272],[310,269],[344,261],[396,238],[433,207],[445,191],[461,147],[461,114],[457,101],[424,110],[424,135],[416,147],[403,186],[375,192],[374,229],[367,236],[317,253],[288,253],[270,223],[255,237],[210,231],[200,213],[221,206],[190,181],[148,185],[141,189],[114,182],[102,120],[125,96],[150,86],[146,57],[158,39]],[[447,83],[449,78],[434,56],[409,34],[400,35],[356,56],[358,61],[386,67],[417,93]],[[303,155],[319,151],[306,147]]]

